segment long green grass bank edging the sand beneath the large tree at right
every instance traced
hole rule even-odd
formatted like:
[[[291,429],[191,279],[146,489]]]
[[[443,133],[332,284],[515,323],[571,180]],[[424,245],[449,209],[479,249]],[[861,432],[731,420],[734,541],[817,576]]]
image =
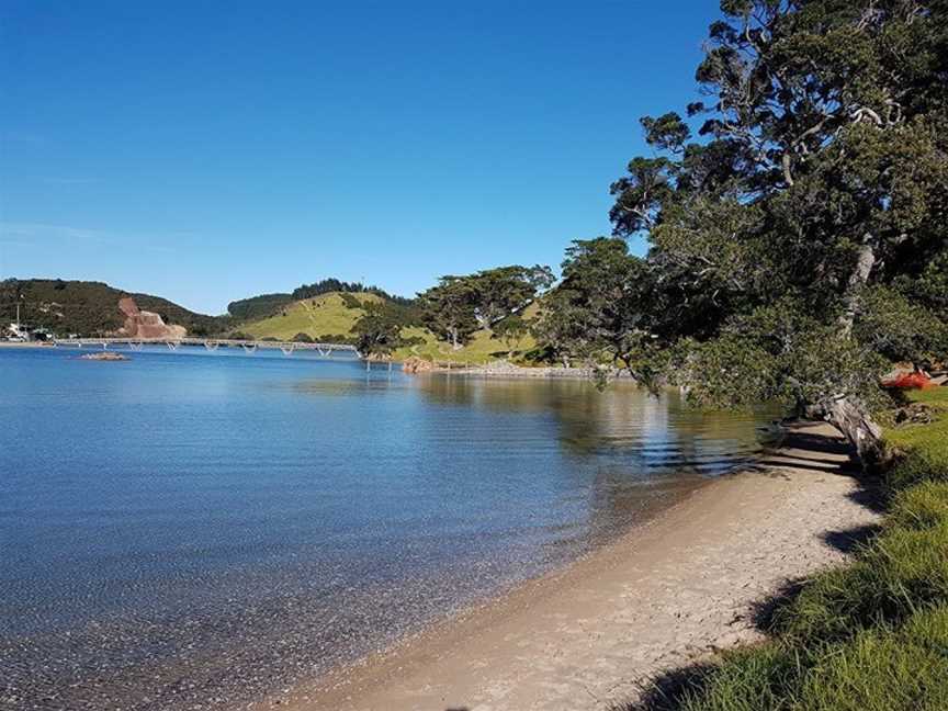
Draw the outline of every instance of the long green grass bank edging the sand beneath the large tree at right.
[[[641,708],[948,709],[948,388],[912,399],[934,421],[887,431],[881,531],[778,605],[768,643],[658,679]]]

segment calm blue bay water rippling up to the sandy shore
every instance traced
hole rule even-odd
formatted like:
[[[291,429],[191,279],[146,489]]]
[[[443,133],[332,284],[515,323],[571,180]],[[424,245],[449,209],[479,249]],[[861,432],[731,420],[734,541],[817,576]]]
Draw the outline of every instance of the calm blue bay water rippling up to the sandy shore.
[[[77,356],[0,350],[0,708],[232,707],[574,560],[757,450],[751,417],[629,386]]]

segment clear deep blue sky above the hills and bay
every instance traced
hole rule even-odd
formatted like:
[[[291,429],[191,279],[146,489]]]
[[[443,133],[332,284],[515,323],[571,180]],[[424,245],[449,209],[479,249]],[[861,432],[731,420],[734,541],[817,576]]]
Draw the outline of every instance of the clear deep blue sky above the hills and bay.
[[[222,313],[608,234],[716,2],[0,2],[0,278]]]

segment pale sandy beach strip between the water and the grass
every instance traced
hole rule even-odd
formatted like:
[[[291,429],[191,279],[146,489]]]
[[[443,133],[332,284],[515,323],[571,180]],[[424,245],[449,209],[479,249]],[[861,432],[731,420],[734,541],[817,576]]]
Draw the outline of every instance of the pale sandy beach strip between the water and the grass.
[[[255,709],[571,711],[634,701],[656,673],[763,636],[754,611],[844,560],[878,522],[825,425],[619,541]]]

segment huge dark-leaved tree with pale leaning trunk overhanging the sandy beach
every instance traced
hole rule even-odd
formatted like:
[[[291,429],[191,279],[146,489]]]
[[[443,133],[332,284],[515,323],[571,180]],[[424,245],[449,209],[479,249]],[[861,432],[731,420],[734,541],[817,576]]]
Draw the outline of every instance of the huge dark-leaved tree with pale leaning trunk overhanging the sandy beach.
[[[652,376],[785,402],[870,463],[880,374],[948,350],[948,2],[721,10],[703,100],[643,119],[655,153],[612,185],[616,235],[650,242],[621,320]]]

